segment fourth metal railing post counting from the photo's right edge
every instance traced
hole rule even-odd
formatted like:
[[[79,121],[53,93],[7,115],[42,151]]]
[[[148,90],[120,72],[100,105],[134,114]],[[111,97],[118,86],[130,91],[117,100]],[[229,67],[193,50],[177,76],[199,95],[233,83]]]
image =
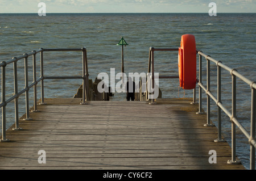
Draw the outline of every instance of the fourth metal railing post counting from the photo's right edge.
[[[213,124],[210,124],[210,95],[208,92],[210,92],[210,61],[208,60],[207,56],[205,57],[207,60],[207,124],[204,124],[205,127],[212,127]]]

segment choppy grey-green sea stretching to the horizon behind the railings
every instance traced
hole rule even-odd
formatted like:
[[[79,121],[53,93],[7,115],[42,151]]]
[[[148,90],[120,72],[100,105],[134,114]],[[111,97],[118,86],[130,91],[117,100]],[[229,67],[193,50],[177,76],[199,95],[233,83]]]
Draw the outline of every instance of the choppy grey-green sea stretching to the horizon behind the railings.
[[[117,45],[123,37],[125,73],[147,73],[150,47],[179,48],[181,36],[195,35],[196,49],[222,61],[240,74],[256,81],[255,58],[255,13],[125,13],[125,14],[0,14],[0,61],[22,56],[39,48],[82,48],[86,47],[89,79],[100,73],[110,75],[121,72],[122,47]],[[178,75],[178,52],[155,52],[155,72],[159,75]],[[37,78],[40,77],[40,54],[36,55]],[[28,58],[28,81],[32,83],[32,57]],[[198,71],[198,58],[197,58]],[[198,73],[198,72],[197,72]],[[81,52],[44,52],[45,76],[82,75]],[[210,88],[217,96],[217,68],[210,64]],[[2,76],[2,75],[0,75]],[[110,77],[110,76],[109,76]],[[203,59],[203,83],[206,86],[206,61]],[[6,67],[6,96],[14,94],[13,65]],[[114,83],[117,83],[118,79]],[[231,112],[232,78],[222,69],[222,103]],[[44,81],[45,98],[72,98],[81,79],[53,79]],[[24,89],[24,60],[18,61],[18,89]],[[182,90],[179,79],[160,79],[162,98],[191,98],[192,90]],[[204,92],[204,91],[203,91]],[[30,107],[33,106],[33,89],[30,90]],[[197,94],[198,98],[198,89]],[[38,99],[40,83],[38,84]],[[110,101],[125,100],[125,94],[114,92]],[[197,99],[198,100],[198,99]],[[203,109],[207,99],[203,94]],[[25,96],[19,97],[19,116],[25,113]],[[211,120],[217,123],[216,104],[211,102]],[[250,86],[237,78],[237,117],[250,133],[251,110]],[[14,103],[7,107],[7,126],[15,123]],[[1,112],[2,113],[2,112]],[[157,121],[157,120],[156,120]],[[0,123],[2,124],[2,123]],[[170,130],[171,131],[171,130]],[[2,129],[1,132],[2,133]],[[222,112],[222,134],[231,144],[231,123]],[[250,168],[250,146],[248,140],[237,129],[237,156],[246,169]]]

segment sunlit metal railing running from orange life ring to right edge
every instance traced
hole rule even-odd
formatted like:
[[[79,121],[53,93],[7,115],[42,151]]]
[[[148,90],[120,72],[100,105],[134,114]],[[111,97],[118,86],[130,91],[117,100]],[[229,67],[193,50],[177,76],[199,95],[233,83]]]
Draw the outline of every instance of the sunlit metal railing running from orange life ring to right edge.
[[[228,66],[222,64],[221,61],[214,60],[207,54],[204,54],[200,50],[197,50],[199,54],[199,112],[202,112],[202,95],[201,90],[203,89],[207,94],[207,124],[205,126],[211,126],[210,124],[210,98],[214,100],[217,105],[217,119],[218,119],[218,138],[214,140],[215,142],[223,142],[221,138],[221,110],[230,117],[232,122],[232,159],[228,161],[230,164],[241,163],[236,160],[236,126],[241,130],[241,132],[246,136],[250,144],[250,169],[255,170],[255,148],[256,148],[256,139],[255,139],[255,117],[256,117],[256,83],[250,81],[236,69],[229,68]],[[202,80],[202,56],[207,60],[207,87],[203,85]],[[210,91],[210,61],[216,64],[217,66],[217,98]],[[229,112],[221,102],[221,69],[224,69],[230,73],[232,76],[232,112]],[[251,130],[250,134],[246,129],[241,125],[236,116],[236,78],[240,78],[243,82],[247,83],[251,89]]]

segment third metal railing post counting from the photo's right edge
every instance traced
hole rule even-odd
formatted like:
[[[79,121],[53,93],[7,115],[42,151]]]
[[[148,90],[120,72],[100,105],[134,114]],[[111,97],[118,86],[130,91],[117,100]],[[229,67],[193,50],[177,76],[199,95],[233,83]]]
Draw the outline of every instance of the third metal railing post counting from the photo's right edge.
[[[218,138],[214,142],[226,142],[226,140],[221,137],[221,108],[218,103],[221,103],[221,67],[218,66],[217,62],[217,117],[218,117]]]

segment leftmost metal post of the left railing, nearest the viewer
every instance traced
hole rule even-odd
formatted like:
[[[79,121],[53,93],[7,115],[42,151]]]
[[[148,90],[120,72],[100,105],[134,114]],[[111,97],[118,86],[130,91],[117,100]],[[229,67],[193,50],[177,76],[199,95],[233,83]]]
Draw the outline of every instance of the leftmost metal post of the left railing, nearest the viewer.
[[[6,139],[6,102],[5,102],[5,68],[6,62],[2,62],[4,65],[2,66],[2,139],[1,142],[8,142],[10,140]]]

